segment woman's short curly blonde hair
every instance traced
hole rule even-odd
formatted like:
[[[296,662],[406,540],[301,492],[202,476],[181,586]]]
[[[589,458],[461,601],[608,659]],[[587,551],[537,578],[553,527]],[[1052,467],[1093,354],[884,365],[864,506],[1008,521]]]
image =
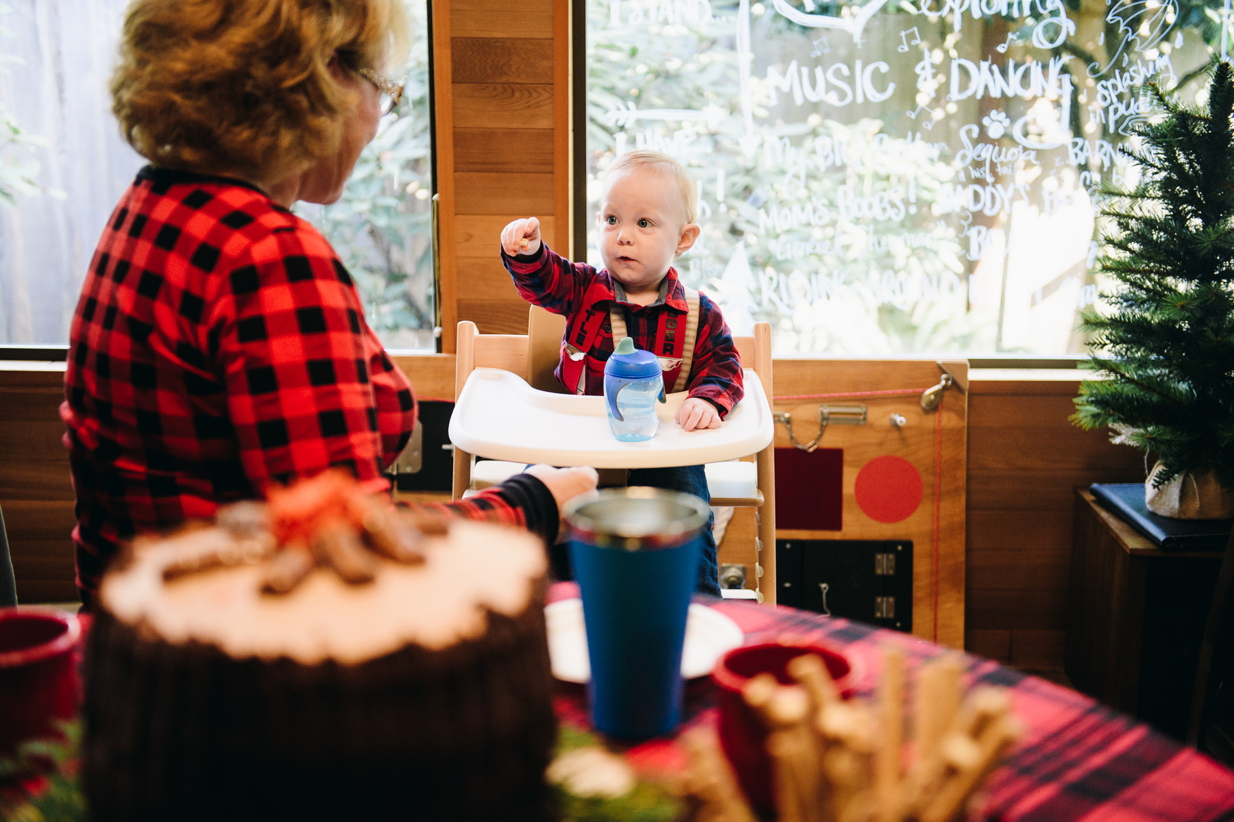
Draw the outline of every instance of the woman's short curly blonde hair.
[[[155,165],[280,180],[338,147],[344,68],[401,62],[401,0],[133,0],[112,111]]]

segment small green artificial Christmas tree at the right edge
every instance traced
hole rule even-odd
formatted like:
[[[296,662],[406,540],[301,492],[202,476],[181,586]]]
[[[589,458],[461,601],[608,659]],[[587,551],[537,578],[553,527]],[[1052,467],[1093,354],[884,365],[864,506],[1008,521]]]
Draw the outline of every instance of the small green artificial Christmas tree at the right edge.
[[[1149,508],[1171,516],[1234,515],[1234,71],[1222,60],[1208,110],[1149,86],[1164,117],[1127,149],[1141,176],[1108,190],[1101,269],[1117,285],[1081,330],[1103,380],[1086,380],[1072,417],[1112,426],[1116,442],[1157,456]],[[1190,477],[1190,482],[1188,482]],[[1215,505],[1195,504],[1209,488]],[[1224,500],[1223,500],[1224,498]]]

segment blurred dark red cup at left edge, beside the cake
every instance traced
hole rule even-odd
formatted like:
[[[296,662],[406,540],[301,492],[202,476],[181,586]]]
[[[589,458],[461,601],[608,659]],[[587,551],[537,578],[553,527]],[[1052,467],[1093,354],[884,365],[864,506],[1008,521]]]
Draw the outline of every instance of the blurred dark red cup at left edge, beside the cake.
[[[0,757],[17,743],[58,736],[56,720],[77,714],[81,621],[51,608],[0,609]]]

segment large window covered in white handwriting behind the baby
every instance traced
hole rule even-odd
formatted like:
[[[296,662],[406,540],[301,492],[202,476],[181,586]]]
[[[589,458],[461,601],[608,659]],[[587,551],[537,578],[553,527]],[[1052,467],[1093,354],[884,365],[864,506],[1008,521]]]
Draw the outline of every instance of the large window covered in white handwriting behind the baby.
[[[589,261],[603,169],[666,152],[701,195],[679,270],[779,354],[1083,350],[1137,86],[1199,100],[1228,25],[1187,0],[578,1]]]

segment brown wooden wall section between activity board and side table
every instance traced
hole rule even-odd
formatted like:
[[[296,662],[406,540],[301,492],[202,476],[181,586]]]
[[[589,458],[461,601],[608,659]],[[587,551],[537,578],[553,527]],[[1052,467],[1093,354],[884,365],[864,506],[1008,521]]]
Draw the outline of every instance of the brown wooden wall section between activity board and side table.
[[[1035,377],[1035,378],[1034,378]],[[1080,372],[972,373],[966,647],[1061,670],[1075,487],[1144,478],[1139,451],[1071,425]]]

